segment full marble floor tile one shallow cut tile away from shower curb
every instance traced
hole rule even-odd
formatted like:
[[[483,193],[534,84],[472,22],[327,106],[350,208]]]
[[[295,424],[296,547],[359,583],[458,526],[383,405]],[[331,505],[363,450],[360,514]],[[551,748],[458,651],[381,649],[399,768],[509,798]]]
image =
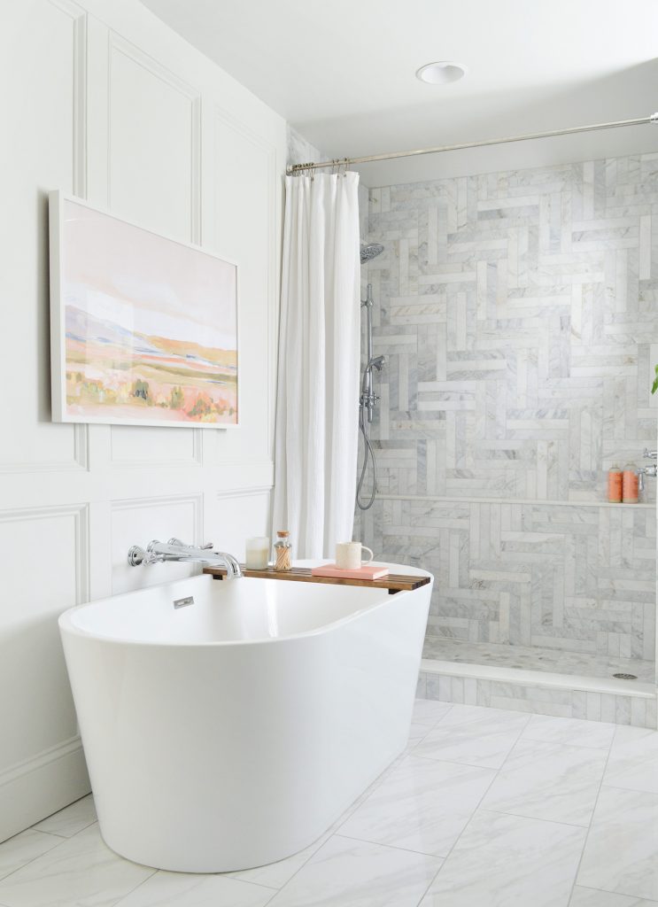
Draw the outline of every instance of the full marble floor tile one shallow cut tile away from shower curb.
[[[587,825],[607,754],[585,746],[519,740],[482,801],[483,809]]]

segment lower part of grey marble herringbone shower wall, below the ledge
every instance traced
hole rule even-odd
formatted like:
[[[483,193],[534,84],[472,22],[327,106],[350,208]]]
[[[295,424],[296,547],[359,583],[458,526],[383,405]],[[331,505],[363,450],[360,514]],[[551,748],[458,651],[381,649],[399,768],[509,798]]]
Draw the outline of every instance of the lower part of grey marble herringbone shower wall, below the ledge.
[[[437,579],[428,641],[653,658],[653,508],[384,498],[373,511],[378,556]]]

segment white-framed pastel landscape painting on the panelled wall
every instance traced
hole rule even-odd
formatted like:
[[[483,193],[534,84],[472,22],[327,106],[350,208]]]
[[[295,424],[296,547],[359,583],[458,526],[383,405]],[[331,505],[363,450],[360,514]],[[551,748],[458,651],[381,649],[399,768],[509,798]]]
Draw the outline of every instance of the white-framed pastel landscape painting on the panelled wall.
[[[50,194],[53,421],[237,425],[237,266]]]

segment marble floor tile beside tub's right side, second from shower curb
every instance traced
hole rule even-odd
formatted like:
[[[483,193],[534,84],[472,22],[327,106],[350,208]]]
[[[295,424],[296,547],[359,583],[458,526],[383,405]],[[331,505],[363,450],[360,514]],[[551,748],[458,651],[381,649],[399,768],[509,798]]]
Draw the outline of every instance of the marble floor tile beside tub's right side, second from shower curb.
[[[408,756],[339,834],[445,856],[495,775],[490,768]]]

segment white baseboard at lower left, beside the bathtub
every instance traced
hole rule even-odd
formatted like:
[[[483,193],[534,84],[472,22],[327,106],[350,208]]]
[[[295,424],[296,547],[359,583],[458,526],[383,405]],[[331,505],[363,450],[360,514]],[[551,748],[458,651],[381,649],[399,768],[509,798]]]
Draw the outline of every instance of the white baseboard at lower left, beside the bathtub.
[[[0,774],[0,841],[89,794],[79,736]]]

